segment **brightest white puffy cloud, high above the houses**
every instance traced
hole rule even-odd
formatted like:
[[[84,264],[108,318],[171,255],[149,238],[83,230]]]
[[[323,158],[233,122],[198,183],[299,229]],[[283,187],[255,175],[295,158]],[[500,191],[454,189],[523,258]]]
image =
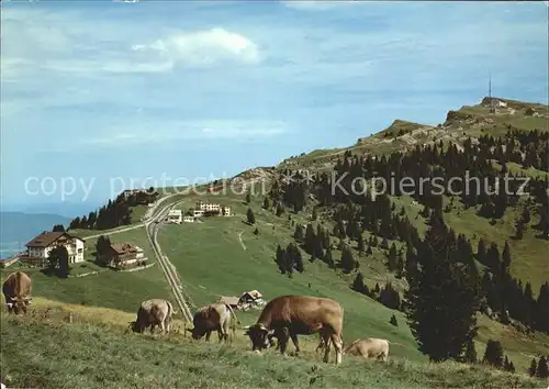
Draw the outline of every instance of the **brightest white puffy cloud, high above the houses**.
[[[261,60],[254,42],[220,27],[179,33],[148,45],[134,45],[132,48],[134,52],[156,52],[172,63],[188,66],[212,65],[224,60],[258,64]]]

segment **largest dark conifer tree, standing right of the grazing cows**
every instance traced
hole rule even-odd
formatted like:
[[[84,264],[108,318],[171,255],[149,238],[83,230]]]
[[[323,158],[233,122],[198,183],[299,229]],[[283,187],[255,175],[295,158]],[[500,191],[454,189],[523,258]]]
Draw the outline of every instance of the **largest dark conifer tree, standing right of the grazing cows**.
[[[477,333],[480,303],[475,278],[451,259],[456,247],[445,246],[446,235],[444,224],[429,227],[418,255],[421,271],[413,271],[405,294],[419,351],[435,362],[460,357]]]

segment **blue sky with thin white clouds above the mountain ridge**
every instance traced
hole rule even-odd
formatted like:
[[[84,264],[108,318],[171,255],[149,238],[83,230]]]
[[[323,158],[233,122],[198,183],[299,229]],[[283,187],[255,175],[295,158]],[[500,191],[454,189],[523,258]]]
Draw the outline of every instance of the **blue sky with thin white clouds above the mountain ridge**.
[[[493,96],[548,101],[544,2],[1,8],[2,210],[231,177],[395,119],[437,124],[479,103],[490,74]]]

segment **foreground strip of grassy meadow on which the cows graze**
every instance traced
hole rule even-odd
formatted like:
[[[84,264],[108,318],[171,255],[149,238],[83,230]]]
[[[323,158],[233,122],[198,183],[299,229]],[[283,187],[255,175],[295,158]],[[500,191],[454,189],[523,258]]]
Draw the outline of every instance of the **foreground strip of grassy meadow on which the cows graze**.
[[[71,322],[69,323],[69,312]],[[37,299],[33,313],[2,309],[0,378],[10,388],[541,388],[524,374],[481,365],[389,364],[344,356],[324,364],[315,342],[299,357],[251,353],[242,334],[231,345],[192,341],[175,323],[169,335],[127,332],[131,314]],[[212,336],[214,338],[214,336]],[[314,340],[316,341],[316,338]],[[24,344],[24,347],[21,347]],[[298,359],[299,358],[299,359]],[[299,363],[296,363],[299,360]]]

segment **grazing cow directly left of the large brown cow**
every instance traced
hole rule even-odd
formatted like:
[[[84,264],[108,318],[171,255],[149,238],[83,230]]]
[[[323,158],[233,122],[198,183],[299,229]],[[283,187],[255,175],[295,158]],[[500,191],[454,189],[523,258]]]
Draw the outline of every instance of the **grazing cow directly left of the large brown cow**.
[[[193,329],[187,329],[192,334],[192,338],[200,340],[205,334],[206,342],[210,342],[212,331],[217,331],[220,342],[228,341],[228,331],[231,329],[231,316],[236,319],[236,314],[231,305],[224,302],[214,302],[200,308],[194,318],[192,318]],[[238,322],[239,324],[240,322]],[[235,336],[236,327],[233,323],[233,337]]]

